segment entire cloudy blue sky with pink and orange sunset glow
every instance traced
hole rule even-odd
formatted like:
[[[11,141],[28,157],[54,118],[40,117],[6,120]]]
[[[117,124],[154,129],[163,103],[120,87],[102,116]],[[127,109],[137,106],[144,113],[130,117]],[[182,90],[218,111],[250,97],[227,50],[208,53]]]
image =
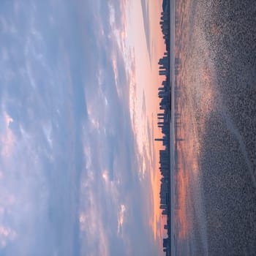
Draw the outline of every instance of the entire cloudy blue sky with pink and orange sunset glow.
[[[0,7],[0,255],[161,255],[162,1]]]

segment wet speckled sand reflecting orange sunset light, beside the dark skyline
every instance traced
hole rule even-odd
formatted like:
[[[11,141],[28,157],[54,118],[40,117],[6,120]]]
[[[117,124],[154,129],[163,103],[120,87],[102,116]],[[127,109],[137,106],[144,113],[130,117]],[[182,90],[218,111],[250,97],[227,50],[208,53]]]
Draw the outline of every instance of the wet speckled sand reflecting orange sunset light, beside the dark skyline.
[[[256,252],[256,4],[176,1],[176,255]]]

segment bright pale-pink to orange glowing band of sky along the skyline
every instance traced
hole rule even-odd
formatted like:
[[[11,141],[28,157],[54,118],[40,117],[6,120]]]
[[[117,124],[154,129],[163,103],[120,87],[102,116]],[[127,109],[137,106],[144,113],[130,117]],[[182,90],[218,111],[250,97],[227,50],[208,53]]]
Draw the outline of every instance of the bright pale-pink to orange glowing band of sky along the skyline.
[[[130,111],[131,119],[138,144],[138,152],[143,159],[150,162],[149,170],[145,170],[150,177],[152,207],[149,225],[154,234],[155,241],[159,241],[159,248],[162,249],[162,221],[159,209],[160,199],[160,179],[159,172],[159,149],[160,143],[148,140],[148,125],[151,132],[151,140],[162,137],[157,127],[157,113],[159,111],[158,87],[162,83],[162,78],[158,75],[158,61],[162,58],[165,51],[162,31],[159,26],[160,15],[162,12],[162,1],[146,1],[148,5],[148,29],[150,31],[150,56],[148,53],[146,32],[143,24],[143,10],[140,1],[129,1],[127,14],[127,44],[134,51],[135,70],[130,78],[134,83],[130,87]],[[132,11],[131,11],[132,10]],[[146,11],[146,10],[145,10]],[[143,108],[145,102],[146,108]],[[154,132],[153,132],[154,131]],[[153,134],[152,134],[153,133]],[[153,150],[150,151],[149,147]],[[155,165],[152,159],[155,159]],[[144,166],[145,167],[145,166]],[[140,168],[144,170],[143,167]],[[143,173],[144,175],[144,173]]]

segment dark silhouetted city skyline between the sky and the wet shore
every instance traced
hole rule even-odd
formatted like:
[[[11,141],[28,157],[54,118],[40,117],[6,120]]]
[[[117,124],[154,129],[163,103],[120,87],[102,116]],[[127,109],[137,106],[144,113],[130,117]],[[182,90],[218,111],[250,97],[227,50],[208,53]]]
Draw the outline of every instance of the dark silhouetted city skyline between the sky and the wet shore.
[[[160,99],[159,109],[161,113],[157,114],[157,125],[162,131],[162,138],[156,138],[155,141],[162,142],[164,149],[159,151],[159,171],[162,174],[160,196],[160,209],[162,215],[167,216],[167,224],[164,228],[167,230],[167,238],[163,239],[163,251],[165,255],[170,255],[170,0],[162,1],[161,20],[159,22],[163,38],[165,39],[166,52],[162,59],[159,59],[159,75],[164,77],[162,85],[158,89]],[[180,60],[175,60],[175,66],[178,70]]]

